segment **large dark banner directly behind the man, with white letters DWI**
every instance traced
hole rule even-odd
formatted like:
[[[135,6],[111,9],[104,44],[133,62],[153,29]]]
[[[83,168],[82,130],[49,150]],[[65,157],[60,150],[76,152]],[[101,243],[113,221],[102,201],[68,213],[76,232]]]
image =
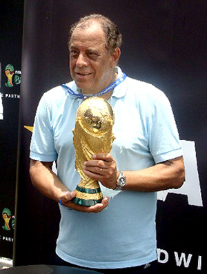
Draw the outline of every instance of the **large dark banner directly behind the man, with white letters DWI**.
[[[52,264],[57,203],[32,186],[29,146],[43,92],[71,80],[68,32],[92,12],[115,21],[124,37],[119,66],[170,99],[184,148],[186,182],[158,193],[158,273],[207,271],[206,1],[26,0],[23,28],[17,223],[14,264]]]

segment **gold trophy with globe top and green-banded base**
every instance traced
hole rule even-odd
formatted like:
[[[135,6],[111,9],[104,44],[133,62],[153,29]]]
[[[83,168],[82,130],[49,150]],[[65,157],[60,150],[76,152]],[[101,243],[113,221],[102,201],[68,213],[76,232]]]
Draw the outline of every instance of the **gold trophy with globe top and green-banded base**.
[[[73,144],[75,146],[75,168],[81,176],[81,182],[75,190],[72,202],[80,206],[94,206],[103,199],[99,182],[83,173],[83,163],[93,159],[96,153],[110,153],[112,126],[115,116],[112,106],[101,97],[90,97],[77,109]]]

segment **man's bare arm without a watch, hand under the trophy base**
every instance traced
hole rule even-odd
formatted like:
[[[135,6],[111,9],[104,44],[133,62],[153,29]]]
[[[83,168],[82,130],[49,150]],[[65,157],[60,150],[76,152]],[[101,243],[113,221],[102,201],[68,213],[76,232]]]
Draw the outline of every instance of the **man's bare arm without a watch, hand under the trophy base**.
[[[98,213],[108,206],[108,197],[95,206],[77,206],[70,200],[75,197],[75,192],[70,191],[52,171],[52,162],[30,160],[30,178],[32,184],[46,197],[59,202],[63,206],[87,213]]]

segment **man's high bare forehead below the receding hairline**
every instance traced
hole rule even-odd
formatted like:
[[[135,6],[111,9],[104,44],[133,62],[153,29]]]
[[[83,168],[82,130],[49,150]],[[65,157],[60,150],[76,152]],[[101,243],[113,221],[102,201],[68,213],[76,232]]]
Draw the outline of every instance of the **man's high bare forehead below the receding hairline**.
[[[99,23],[92,23],[86,28],[81,28],[81,26],[75,28],[70,39],[70,47],[77,44],[97,46],[103,45],[105,42],[104,32]]]

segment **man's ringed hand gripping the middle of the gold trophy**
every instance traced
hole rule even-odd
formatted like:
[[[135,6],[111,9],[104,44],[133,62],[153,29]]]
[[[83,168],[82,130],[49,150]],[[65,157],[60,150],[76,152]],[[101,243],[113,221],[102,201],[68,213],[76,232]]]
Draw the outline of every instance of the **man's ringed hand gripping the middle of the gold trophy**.
[[[90,178],[100,181],[106,188],[115,189],[119,172],[117,163],[110,153],[98,153],[86,161],[83,172]]]

